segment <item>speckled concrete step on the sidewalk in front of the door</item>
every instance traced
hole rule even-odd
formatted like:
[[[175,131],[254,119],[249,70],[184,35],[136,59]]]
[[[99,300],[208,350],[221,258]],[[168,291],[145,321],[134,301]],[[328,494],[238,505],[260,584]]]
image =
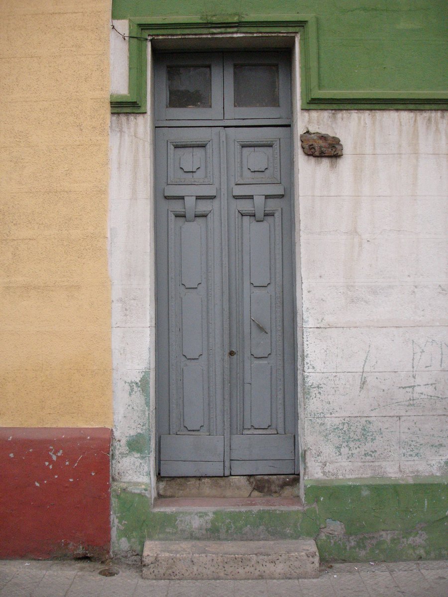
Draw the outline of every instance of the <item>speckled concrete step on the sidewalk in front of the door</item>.
[[[146,541],[143,578],[223,580],[317,578],[312,539],[272,541]]]

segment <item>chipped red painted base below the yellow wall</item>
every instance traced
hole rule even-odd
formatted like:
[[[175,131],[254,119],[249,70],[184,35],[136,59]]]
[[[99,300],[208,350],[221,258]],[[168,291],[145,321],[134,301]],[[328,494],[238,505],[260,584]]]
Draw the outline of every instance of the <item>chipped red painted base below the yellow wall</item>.
[[[0,428],[0,558],[106,557],[110,456],[110,429]]]

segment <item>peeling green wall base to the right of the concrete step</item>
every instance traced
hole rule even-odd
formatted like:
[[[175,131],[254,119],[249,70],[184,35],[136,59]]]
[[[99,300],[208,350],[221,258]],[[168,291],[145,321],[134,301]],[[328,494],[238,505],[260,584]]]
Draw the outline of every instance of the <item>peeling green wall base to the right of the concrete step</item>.
[[[447,478],[306,482],[323,561],[446,558]]]

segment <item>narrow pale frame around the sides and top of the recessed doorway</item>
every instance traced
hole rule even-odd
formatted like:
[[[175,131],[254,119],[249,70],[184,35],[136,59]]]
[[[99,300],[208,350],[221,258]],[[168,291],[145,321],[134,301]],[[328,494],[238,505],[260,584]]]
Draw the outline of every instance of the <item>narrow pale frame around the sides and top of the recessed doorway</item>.
[[[154,112],[154,48],[162,47],[164,50],[208,50],[218,49],[216,45],[219,37],[219,43],[225,45],[226,50],[250,50],[254,47],[254,41],[259,47],[260,34],[228,34],[228,35],[161,35],[154,36],[154,38],[148,41],[147,59],[148,59],[148,101],[149,101],[149,114],[151,115],[151,135],[149,143],[151,146],[149,155],[151,160],[151,194],[150,199],[150,213],[148,214],[149,222],[151,226],[151,270],[149,283],[152,288],[151,292],[151,319],[157,321],[156,304],[157,304],[157,281],[155,279],[155,170],[154,170],[154,145],[155,145],[155,112]],[[303,408],[303,327],[302,327],[302,282],[301,282],[301,269],[300,269],[300,242],[299,242],[299,173],[296,167],[298,163],[297,152],[300,148],[300,133],[299,130],[299,110],[300,110],[300,36],[299,33],[290,34],[275,34],[266,35],[262,34],[263,39],[269,38],[269,45],[266,44],[264,48],[271,49],[275,48],[275,42],[281,38],[282,47],[290,47],[291,52],[291,139],[292,139],[292,176],[291,176],[291,195],[294,198],[294,220],[292,226],[292,236],[295,247],[293,247],[293,274],[294,274],[294,285],[295,292],[293,292],[294,301],[294,312],[296,315],[296,325],[294,327],[294,358],[296,362],[296,472],[300,475],[300,497],[304,497],[304,457],[302,450],[302,439],[304,437],[304,408]],[[287,43],[286,42],[287,39]],[[272,45],[271,45],[272,44]],[[295,248],[295,250],[294,250]],[[152,458],[150,462],[151,470],[151,498],[154,500],[156,495],[157,487],[157,462],[158,462],[158,429],[157,429],[157,366],[156,366],[156,334],[151,334],[150,346],[149,346],[149,370],[150,370],[150,387],[149,392],[154,399],[151,401],[149,408],[149,427],[151,431],[151,442],[152,442]]]

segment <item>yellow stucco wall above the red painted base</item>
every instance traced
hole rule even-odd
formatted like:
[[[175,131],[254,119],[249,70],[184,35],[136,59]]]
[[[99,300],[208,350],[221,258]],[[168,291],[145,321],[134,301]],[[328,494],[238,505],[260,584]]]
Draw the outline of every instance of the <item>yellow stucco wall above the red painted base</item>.
[[[0,426],[111,426],[110,0],[0,0]]]

